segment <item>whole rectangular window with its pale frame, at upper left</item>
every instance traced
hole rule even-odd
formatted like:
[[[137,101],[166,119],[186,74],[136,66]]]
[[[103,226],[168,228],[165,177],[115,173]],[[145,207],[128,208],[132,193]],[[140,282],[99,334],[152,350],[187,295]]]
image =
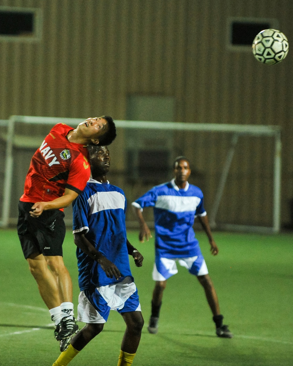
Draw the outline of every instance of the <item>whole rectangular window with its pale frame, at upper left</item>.
[[[0,7],[0,41],[37,42],[41,29],[41,9]]]

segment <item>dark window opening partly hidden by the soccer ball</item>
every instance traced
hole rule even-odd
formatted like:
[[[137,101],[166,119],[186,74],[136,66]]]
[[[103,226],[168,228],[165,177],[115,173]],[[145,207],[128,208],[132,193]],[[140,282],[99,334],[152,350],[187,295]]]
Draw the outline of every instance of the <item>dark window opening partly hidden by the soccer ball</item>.
[[[255,36],[262,30],[271,28],[268,23],[232,23],[232,44],[233,45],[252,45]]]

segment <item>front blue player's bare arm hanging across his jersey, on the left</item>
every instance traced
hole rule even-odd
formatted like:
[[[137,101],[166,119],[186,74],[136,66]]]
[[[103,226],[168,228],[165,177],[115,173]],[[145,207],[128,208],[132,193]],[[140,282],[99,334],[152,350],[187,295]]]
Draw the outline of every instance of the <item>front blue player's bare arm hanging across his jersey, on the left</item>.
[[[105,272],[107,277],[113,278],[116,280],[121,277],[121,273],[119,269],[115,266],[114,263],[109,261],[103,254],[96,250],[96,248],[86,239],[85,235],[81,233],[73,234],[74,236],[74,244],[79,247],[85,254],[87,254],[90,258],[97,261],[103,271]]]

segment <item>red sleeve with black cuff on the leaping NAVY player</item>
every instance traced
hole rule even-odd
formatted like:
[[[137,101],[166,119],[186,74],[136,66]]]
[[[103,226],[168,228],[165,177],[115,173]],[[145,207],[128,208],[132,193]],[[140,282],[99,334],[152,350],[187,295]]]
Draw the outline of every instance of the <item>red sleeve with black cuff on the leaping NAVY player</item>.
[[[70,165],[66,188],[81,194],[90,178],[90,166],[87,159],[80,154]]]

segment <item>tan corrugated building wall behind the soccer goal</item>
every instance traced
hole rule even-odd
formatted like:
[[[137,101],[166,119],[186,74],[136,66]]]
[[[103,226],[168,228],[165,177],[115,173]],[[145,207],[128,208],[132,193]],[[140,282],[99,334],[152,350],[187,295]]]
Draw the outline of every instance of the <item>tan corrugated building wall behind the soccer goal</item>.
[[[43,15],[40,42],[0,41],[0,119],[102,114],[125,119],[127,96],[141,94],[175,97],[178,122],[279,125],[282,222],[290,220],[292,51],[281,64],[265,66],[251,52],[230,51],[226,44],[229,17],[257,17],[278,19],[290,45],[291,0],[1,0],[0,5],[41,8]],[[179,135],[176,143],[194,160],[193,181],[198,177],[203,185],[209,208],[225,159],[218,142],[228,146],[229,138],[198,136],[194,141],[194,135]],[[113,166],[121,172],[123,141],[121,136],[112,151]],[[272,148],[267,138],[240,141],[220,220],[270,224]],[[263,179],[256,180],[259,171]],[[242,199],[235,202],[230,197],[243,180]],[[247,201],[253,212],[243,208]]]

